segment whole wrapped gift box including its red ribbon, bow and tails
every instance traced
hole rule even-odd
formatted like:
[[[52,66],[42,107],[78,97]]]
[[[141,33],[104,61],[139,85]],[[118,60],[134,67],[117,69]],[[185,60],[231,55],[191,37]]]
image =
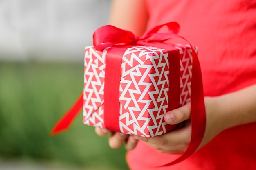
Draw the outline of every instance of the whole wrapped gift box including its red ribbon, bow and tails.
[[[179,24],[169,22],[138,37],[110,25],[98,28],[94,46],[85,48],[83,93],[50,134],[67,130],[83,109],[84,124],[154,137],[179,128],[166,124],[164,113],[191,102],[190,144],[163,166],[190,157],[204,137],[206,114],[197,50],[177,35],[179,29]],[[188,45],[170,44],[173,38]]]

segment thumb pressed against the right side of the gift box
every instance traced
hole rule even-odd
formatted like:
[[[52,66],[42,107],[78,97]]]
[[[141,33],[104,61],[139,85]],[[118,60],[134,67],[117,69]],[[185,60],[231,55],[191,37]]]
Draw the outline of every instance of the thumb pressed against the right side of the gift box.
[[[164,114],[164,121],[168,124],[178,124],[185,120],[190,119],[190,102],[186,105],[168,111]]]

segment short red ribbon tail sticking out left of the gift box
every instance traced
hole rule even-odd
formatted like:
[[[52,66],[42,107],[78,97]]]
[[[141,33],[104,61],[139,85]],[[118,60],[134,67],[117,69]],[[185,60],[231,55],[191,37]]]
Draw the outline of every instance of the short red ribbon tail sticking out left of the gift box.
[[[52,128],[50,135],[56,135],[58,133],[62,133],[63,131],[67,131],[75,118],[79,115],[83,107],[83,93],[80,94],[79,98],[76,100],[74,105],[63,115],[63,117],[58,120],[58,122]]]

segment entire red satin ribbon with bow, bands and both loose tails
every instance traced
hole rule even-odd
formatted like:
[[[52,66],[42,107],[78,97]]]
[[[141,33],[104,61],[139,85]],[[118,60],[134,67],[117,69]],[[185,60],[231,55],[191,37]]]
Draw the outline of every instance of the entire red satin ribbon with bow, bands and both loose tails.
[[[163,26],[168,27],[168,33],[158,33],[159,29]],[[122,30],[119,28],[116,28],[114,26],[102,26],[98,28],[93,35],[94,40],[94,47],[96,50],[103,50],[104,48],[110,47],[108,53],[110,52],[111,57],[106,57],[106,70],[105,70],[105,92],[104,92],[104,121],[106,120],[105,115],[108,114],[107,120],[105,123],[105,126],[110,130],[120,131],[119,130],[119,81],[120,81],[120,74],[121,74],[121,60],[122,60],[122,54],[124,53],[124,50],[127,48],[125,45],[146,45],[146,46],[156,46],[160,48],[164,48],[168,51],[172,51],[173,48],[170,47],[170,45],[164,44],[164,41],[172,39],[172,38],[182,38],[183,37],[177,35],[179,31],[179,25],[176,22],[170,22],[167,24],[163,24],[160,26],[156,26],[146,32],[142,37],[138,37],[134,35],[130,31]],[[186,40],[186,39],[185,39]],[[187,41],[187,40],[186,40]],[[116,47],[118,46],[118,47]],[[115,50],[115,52],[111,52],[111,50]],[[184,154],[181,155],[178,159],[175,161],[172,161],[171,163],[168,163],[163,166],[173,165],[175,163],[178,163],[189,156],[191,156],[195,150],[200,145],[203,137],[204,137],[204,131],[206,126],[206,116],[205,116],[205,107],[204,107],[204,94],[203,94],[203,87],[202,87],[202,75],[201,75],[201,69],[200,64],[198,61],[197,54],[195,53],[195,50],[191,46],[192,50],[192,79],[191,79],[191,142],[189,144],[189,147],[185,151]],[[117,54],[118,55],[115,55]],[[171,56],[171,53],[169,54]],[[177,69],[180,69],[178,66],[180,66],[180,63],[177,61],[176,57],[171,57],[173,59],[173,62],[175,62],[174,69],[177,71]],[[176,58],[176,59],[175,59]],[[171,61],[169,62],[171,63]],[[113,69],[113,67],[115,67]],[[173,68],[173,67],[169,67]],[[117,70],[117,71],[109,71],[109,70]],[[170,76],[171,72],[169,73]],[[178,75],[178,76],[177,76]],[[180,82],[180,75],[176,74],[176,76],[173,74],[169,78],[178,78],[178,82]],[[107,82],[106,82],[107,81]],[[115,82],[115,83],[114,83]],[[118,83],[117,83],[118,82]],[[170,83],[171,84],[171,83]],[[173,89],[180,89],[179,83],[176,84],[175,87],[171,87]],[[178,85],[177,85],[178,84]],[[113,87],[115,86],[115,87]],[[171,89],[170,88],[170,89]],[[108,89],[108,90],[106,90]],[[171,90],[169,90],[171,91]],[[171,96],[176,96],[170,101],[169,100],[169,109],[174,109],[178,107],[178,101],[177,95],[179,93],[177,92],[170,92],[173,93]],[[114,95],[113,95],[114,94]],[[169,98],[171,98],[169,96]],[[74,120],[76,115],[79,113],[79,110],[82,108],[82,95],[80,96],[79,100],[74,104],[74,106],[61,118],[61,120],[54,126],[54,128],[51,131],[51,134],[54,135],[56,133],[60,133],[70,126],[71,122]],[[113,103],[115,103],[115,106],[113,106]],[[171,106],[172,105],[172,106]],[[78,109],[80,108],[80,109]],[[110,113],[110,114],[109,114]],[[112,114],[113,113],[113,114]]]

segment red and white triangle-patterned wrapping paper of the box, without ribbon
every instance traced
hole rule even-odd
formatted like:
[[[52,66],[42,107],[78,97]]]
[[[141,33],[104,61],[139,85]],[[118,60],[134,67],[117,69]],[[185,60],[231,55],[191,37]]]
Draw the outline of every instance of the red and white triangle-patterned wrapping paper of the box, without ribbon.
[[[178,51],[178,82],[169,81],[171,52],[152,46],[130,46],[121,56],[119,83],[119,113],[117,118],[122,133],[144,137],[162,135],[176,125],[164,122],[168,111],[169,85],[178,84],[179,106],[190,102],[192,55],[189,45],[170,45]],[[106,128],[104,119],[114,113],[104,113],[105,59],[108,49],[85,48],[83,89],[83,123]],[[115,52],[114,52],[115,53]],[[177,87],[177,85],[176,85]],[[179,88],[180,87],[180,88]]]

